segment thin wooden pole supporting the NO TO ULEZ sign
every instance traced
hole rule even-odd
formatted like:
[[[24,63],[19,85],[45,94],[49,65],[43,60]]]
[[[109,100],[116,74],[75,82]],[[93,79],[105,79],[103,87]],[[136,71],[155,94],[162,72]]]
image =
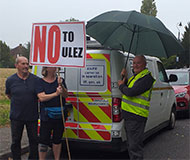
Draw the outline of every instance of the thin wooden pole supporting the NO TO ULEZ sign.
[[[60,76],[60,72],[58,69],[58,76]],[[62,86],[62,85],[61,85]],[[63,86],[62,86],[63,88]],[[62,119],[63,119],[63,124],[64,124],[64,132],[65,132],[65,140],[66,140],[66,145],[67,145],[67,153],[68,153],[68,157],[69,160],[71,160],[71,154],[70,154],[70,149],[69,149],[69,142],[68,142],[68,138],[67,138],[67,131],[66,131],[66,127],[65,127],[65,116],[64,116],[64,111],[63,111],[63,100],[62,100],[62,94],[60,94],[60,103],[61,103],[61,113],[62,113]]]

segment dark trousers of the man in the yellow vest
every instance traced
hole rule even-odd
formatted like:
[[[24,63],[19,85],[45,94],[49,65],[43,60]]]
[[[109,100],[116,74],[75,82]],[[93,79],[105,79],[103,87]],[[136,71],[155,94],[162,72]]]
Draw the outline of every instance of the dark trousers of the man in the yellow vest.
[[[146,121],[125,120],[130,160],[143,159],[143,134]]]

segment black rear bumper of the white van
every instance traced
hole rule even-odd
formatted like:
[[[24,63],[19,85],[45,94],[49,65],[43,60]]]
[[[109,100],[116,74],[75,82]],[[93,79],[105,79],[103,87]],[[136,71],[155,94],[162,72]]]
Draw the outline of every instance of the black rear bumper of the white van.
[[[122,141],[121,138],[113,138],[112,141],[88,141],[88,140],[74,140],[69,139],[69,147],[73,150],[98,150],[98,151],[113,151],[113,152],[123,152],[127,150],[126,141]],[[63,140],[63,145],[66,142]]]

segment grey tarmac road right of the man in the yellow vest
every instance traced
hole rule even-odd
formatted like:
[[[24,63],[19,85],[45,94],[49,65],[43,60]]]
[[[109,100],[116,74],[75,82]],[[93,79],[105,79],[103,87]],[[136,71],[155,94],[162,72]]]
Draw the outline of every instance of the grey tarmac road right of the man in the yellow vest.
[[[145,158],[190,160],[190,119],[177,119],[173,130],[163,130],[145,144]]]

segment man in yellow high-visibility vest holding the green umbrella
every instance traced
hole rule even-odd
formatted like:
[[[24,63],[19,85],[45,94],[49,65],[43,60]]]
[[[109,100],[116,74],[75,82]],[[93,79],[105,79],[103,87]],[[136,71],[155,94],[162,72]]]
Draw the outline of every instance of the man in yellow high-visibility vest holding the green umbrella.
[[[150,98],[155,79],[146,68],[146,58],[138,55],[133,59],[134,75],[128,79],[126,69],[118,81],[123,93],[122,116],[125,120],[128,152],[131,160],[143,159],[143,133],[149,114]]]

